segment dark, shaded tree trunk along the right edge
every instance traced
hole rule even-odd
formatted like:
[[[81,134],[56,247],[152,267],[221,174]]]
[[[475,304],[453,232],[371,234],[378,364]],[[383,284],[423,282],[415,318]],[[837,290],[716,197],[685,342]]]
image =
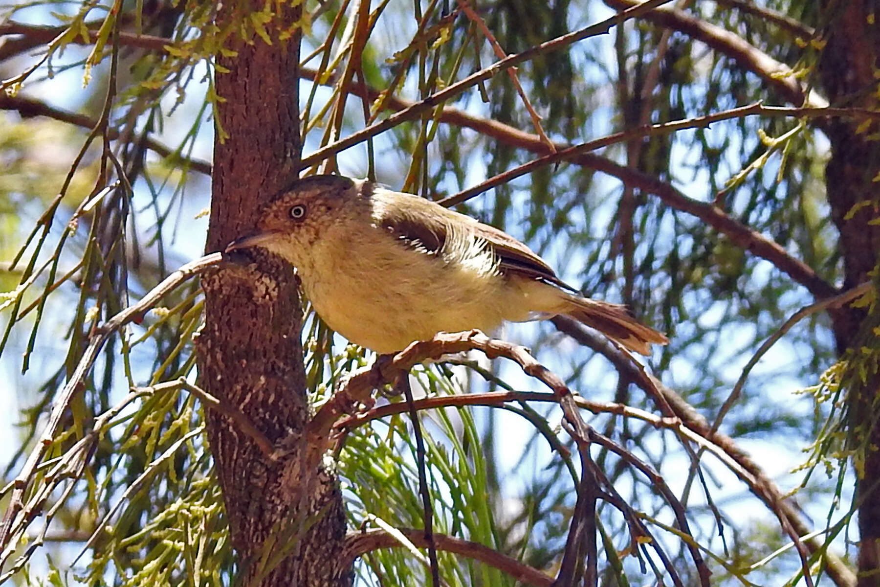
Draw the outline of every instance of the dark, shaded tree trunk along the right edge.
[[[876,0],[825,0],[831,31],[823,51],[820,73],[832,106],[877,107],[876,68],[880,65],[880,30],[873,18],[880,13]],[[880,141],[876,124],[867,132],[856,132],[853,121],[832,121],[826,128],[832,143],[832,157],[826,167],[828,202],[840,231],[840,252],[845,270],[845,288],[864,281],[877,264],[880,226],[877,217],[877,184],[880,171]],[[861,328],[866,319],[862,309],[847,308],[834,315],[838,348],[861,347],[876,336]],[[862,334],[860,334],[860,330]],[[864,385],[848,390],[850,426],[854,445],[869,440],[864,470],[856,486],[859,503],[859,585],[880,584],[880,427],[877,426],[877,384],[874,374]]]

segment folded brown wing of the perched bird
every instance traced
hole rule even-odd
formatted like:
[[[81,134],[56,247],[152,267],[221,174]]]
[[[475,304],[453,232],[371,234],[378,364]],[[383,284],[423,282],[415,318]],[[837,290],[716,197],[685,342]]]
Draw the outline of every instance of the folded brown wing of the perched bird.
[[[502,273],[522,275],[575,291],[532,249],[494,226],[412,194],[376,188],[372,199],[377,224],[407,246],[420,247],[427,253],[441,253],[451,233],[450,226],[466,227],[473,236],[486,241],[498,258],[498,269]],[[406,199],[405,205],[393,205],[401,199]]]

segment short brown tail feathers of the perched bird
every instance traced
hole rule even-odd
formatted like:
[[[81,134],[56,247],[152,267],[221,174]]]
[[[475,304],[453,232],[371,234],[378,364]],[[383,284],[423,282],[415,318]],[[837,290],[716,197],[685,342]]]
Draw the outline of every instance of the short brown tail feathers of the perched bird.
[[[667,344],[663,333],[640,324],[627,310],[627,306],[600,302],[588,297],[566,294],[567,304],[560,312],[591,328],[596,328],[627,349],[642,355],[650,355],[651,343]]]

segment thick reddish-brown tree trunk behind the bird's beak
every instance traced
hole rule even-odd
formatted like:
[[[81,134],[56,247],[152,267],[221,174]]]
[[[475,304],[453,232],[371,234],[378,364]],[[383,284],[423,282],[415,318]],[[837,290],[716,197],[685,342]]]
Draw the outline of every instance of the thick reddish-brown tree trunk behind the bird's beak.
[[[218,24],[246,2],[219,8]],[[283,4],[278,4],[282,6]],[[282,22],[299,18],[286,7]],[[290,180],[300,152],[299,39],[231,40],[238,55],[218,57],[217,124],[208,251],[253,228],[257,211]],[[239,584],[351,584],[342,567],[345,518],[333,473],[303,470],[302,311],[289,264],[268,253],[206,275],[205,324],[197,342],[202,386],[236,407],[276,447],[267,459],[233,422],[207,411],[209,440],[223,488]]]

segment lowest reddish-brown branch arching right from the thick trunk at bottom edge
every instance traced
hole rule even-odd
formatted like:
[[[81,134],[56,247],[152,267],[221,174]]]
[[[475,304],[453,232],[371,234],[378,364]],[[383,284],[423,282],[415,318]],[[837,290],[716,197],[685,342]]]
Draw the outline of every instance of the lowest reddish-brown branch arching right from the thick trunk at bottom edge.
[[[425,539],[424,532],[411,528],[397,528],[397,531],[403,534],[407,540],[412,542],[416,547],[427,548],[428,541]],[[504,573],[515,578],[517,581],[536,585],[536,587],[551,587],[554,584],[554,578],[547,576],[538,569],[533,569],[522,562],[501,554],[493,548],[489,548],[479,542],[471,542],[453,538],[445,534],[434,534],[434,541],[438,550],[444,550],[448,553],[462,554],[474,561],[480,561],[484,564],[499,569]],[[367,532],[351,532],[346,537],[345,554],[346,557],[340,561],[342,569],[347,568],[355,559],[370,551],[378,548],[394,548],[403,547],[400,540],[396,539],[385,530],[368,530]]]

